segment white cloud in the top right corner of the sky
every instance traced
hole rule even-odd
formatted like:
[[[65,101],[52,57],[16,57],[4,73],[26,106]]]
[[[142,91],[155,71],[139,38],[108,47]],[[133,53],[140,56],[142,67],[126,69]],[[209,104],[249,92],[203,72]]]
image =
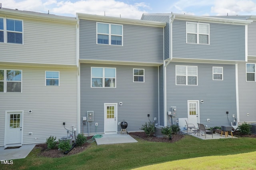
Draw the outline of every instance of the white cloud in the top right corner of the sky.
[[[252,0],[215,0],[211,12],[220,15],[252,15],[256,12],[256,3]]]

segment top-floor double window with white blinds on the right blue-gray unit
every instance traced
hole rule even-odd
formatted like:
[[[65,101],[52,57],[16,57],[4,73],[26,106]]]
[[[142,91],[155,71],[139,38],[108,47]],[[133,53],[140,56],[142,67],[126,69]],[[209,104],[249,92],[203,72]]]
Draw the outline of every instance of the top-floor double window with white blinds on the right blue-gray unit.
[[[186,22],[187,43],[209,44],[209,24]]]

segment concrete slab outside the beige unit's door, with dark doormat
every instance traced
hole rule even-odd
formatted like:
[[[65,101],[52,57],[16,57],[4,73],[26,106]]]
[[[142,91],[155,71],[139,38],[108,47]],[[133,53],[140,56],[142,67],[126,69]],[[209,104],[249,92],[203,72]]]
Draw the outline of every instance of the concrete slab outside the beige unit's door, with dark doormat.
[[[36,144],[26,144],[16,149],[4,149],[4,147],[0,147],[0,160],[26,158],[35,146]]]

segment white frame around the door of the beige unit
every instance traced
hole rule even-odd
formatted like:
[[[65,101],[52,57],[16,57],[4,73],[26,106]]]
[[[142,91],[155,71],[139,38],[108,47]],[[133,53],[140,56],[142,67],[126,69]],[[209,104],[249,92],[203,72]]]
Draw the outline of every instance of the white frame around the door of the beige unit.
[[[9,123],[9,117],[7,116],[8,113],[21,113],[20,115],[20,129],[21,129],[21,141],[20,143],[16,143],[16,144],[8,144],[8,141],[7,141],[7,129],[9,128],[10,126],[10,123]],[[4,147],[8,146],[8,147],[16,147],[16,146],[22,146],[22,143],[23,143],[23,118],[24,118],[24,111],[23,110],[12,110],[12,111],[5,111],[5,126],[4,126]]]

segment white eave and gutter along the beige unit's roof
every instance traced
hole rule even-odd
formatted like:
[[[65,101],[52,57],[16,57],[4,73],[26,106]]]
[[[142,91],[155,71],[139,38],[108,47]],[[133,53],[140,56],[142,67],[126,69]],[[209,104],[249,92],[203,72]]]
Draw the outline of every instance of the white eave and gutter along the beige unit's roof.
[[[21,18],[21,19],[30,19],[30,20],[40,20],[40,21],[52,21],[60,23],[77,23],[75,17],[66,17],[66,16],[57,16],[53,14],[44,14],[39,12],[30,12],[30,11],[21,11],[21,10],[12,10],[8,8],[0,8],[0,16],[12,17],[12,18]]]

